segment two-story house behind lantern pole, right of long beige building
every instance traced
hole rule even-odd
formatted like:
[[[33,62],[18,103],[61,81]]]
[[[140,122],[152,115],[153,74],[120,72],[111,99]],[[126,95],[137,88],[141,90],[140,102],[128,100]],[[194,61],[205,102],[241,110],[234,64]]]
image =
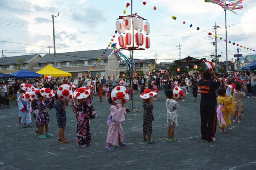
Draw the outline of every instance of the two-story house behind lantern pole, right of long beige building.
[[[152,69],[148,61],[140,60],[140,59],[133,59],[134,61],[134,73],[136,71],[142,71],[144,75],[147,75],[148,72]],[[130,72],[128,70],[127,66],[124,64],[124,62],[120,62],[120,74],[123,74],[125,72]]]

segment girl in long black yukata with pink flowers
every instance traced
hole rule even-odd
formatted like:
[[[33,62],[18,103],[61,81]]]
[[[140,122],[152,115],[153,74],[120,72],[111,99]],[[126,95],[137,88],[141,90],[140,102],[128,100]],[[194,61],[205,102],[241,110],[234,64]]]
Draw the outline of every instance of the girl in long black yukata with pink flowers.
[[[80,92],[82,93],[82,92]],[[91,143],[91,130],[89,119],[94,119],[97,114],[92,107],[90,98],[77,99],[74,97],[73,112],[77,118],[76,144],[78,147],[86,147]]]

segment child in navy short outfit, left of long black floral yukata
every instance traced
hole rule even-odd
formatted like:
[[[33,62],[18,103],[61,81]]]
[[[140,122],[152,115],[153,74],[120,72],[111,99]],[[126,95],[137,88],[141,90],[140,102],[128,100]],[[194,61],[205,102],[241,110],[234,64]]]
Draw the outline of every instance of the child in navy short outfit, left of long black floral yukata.
[[[62,101],[58,95],[55,95],[55,98],[57,100],[55,104],[56,109],[56,119],[59,127],[59,137],[58,137],[58,143],[70,143],[67,139],[64,138],[64,131],[66,127],[66,103],[67,99],[64,98]]]

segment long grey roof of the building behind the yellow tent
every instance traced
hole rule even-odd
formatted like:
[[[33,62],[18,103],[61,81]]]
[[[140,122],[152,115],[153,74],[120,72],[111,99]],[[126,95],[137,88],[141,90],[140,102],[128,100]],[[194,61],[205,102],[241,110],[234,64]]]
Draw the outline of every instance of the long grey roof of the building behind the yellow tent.
[[[105,52],[103,59],[108,58],[108,56],[113,52],[113,49],[105,51],[105,49],[100,50],[89,50],[89,51],[75,51],[68,53],[56,53],[56,61],[81,61],[81,60],[92,60],[98,59],[100,55]],[[46,54],[44,57],[36,61],[36,63],[49,63],[54,62],[54,54]]]

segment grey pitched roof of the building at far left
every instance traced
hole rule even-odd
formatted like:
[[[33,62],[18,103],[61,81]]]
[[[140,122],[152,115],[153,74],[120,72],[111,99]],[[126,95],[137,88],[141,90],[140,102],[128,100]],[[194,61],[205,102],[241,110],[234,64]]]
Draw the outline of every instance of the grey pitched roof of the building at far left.
[[[13,57],[3,57],[3,58],[0,58],[0,65],[26,64],[26,63],[29,63],[32,59],[34,59],[38,55],[39,54],[20,55],[20,56],[13,56]],[[20,62],[18,62],[19,59],[25,59],[25,60],[22,63],[20,63]]]

